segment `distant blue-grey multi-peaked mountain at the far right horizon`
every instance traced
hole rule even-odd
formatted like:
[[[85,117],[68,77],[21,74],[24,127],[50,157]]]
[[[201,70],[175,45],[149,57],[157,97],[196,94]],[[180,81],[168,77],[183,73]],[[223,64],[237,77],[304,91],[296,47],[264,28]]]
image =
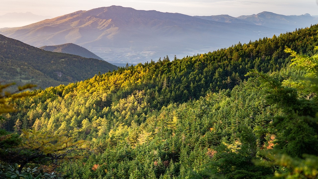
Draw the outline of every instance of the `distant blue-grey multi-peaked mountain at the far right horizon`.
[[[318,18],[310,16],[310,14],[300,16],[285,16],[275,14],[273,12],[261,12],[250,16],[239,16],[239,20],[263,25],[266,27],[285,29],[286,31],[294,30],[295,28],[309,27],[318,23]]]

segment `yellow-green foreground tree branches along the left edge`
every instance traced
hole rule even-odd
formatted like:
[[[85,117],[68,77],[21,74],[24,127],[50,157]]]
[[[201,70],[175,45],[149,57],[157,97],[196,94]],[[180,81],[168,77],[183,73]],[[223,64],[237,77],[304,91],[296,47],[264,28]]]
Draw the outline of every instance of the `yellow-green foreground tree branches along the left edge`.
[[[32,96],[29,91],[23,93],[9,93],[3,90],[13,84],[0,84],[0,115],[8,112],[13,112],[15,109],[13,106],[7,104],[9,99],[23,98],[26,96]],[[33,85],[26,85],[24,87],[18,87],[18,91],[29,89]],[[17,91],[17,92],[18,92]],[[2,121],[5,118],[1,118]],[[19,125],[19,124],[17,124]],[[6,175],[9,178],[32,178],[30,171],[24,171],[25,167],[29,167],[31,164],[44,164],[50,165],[52,163],[58,163],[63,160],[77,158],[77,150],[86,149],[83,147],[84,140],[75,141],[73,138],[67,138],[64,133],[50,133],[43,130],[22,129],[21,135],[10,133],[5,130],[0,130],[0,161],[2,163],[2,172],[7,172]],[[8,167],[18,166],[17,168]],[[14,173],[6,170],[10,168],[12,170],[17,169]],[[1,175],[1,173],[0,173]],[[37,175],[39,178],[41,175]],[[4,177],[2,174],[1,177]]]

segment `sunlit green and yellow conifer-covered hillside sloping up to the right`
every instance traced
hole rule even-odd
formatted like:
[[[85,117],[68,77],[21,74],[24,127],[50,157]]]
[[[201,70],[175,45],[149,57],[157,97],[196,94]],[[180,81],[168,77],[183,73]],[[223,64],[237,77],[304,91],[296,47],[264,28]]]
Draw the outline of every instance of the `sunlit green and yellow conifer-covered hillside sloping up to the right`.
[[[9,101],[17,111],[3,114],[2,128],[87,140],[86,158],[56,168],[65,178],[296,175],[302,170],[291,166],[302,154],[318,154],[317,85],[297,75],[315,77],[318,64],[301,56],[307,60],[294,64],[305,68],[290,66],[284,49],[313,56],[315,46],[317,25],[37,89]],[[246,76],[250,70],[259,77]],[[280,163],[277,151],[298,158]]]

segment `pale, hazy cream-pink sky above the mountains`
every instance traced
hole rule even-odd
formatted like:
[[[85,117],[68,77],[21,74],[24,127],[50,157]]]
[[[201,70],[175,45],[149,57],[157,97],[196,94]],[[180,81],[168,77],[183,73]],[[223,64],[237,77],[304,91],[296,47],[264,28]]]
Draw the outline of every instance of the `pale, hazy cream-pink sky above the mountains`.
[[[283,15],[318,15],[318,0],[0,0],[0,15],[32,12],[57,17],[78,10],[120,5],[137,10],[178,12],[191,16],[251,15],[271,11]]]

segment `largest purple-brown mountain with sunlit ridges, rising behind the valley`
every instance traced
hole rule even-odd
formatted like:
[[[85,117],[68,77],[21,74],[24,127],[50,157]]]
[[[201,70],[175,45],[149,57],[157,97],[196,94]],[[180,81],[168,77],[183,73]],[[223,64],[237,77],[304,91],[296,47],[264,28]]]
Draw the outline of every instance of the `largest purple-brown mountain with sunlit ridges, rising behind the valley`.
[[[110,6],[76,11],[0,33],[35,47],[74,43],[109,62],[187,56],[284,30],[205,20],[179,13]]]

